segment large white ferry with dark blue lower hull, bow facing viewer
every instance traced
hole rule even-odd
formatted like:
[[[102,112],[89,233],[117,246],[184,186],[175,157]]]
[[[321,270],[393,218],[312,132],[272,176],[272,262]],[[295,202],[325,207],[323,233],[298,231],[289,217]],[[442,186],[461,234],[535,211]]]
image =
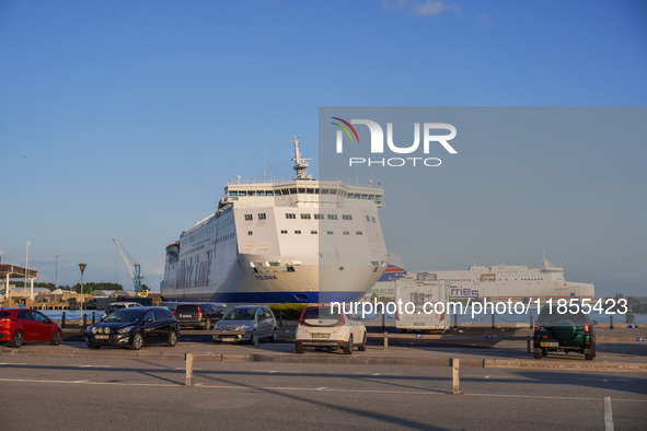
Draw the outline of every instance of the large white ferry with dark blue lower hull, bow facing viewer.
[[[166,247],[165,300],[356,301],[382,276],[384,190],[313,179],[292,142],[292,180],[230,179],[217,211]]]

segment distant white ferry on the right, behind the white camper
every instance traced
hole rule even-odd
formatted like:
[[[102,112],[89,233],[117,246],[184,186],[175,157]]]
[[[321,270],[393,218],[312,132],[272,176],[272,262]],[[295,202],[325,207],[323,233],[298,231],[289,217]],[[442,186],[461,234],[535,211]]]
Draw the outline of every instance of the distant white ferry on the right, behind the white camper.
[[[566,281],[564,268],[544,256],[543,268],[524,265],[471,266],[467,270],[429,271],[425,279],[446,280],[451,299],[523,300],[548,298],[594,298],[594,286]]]

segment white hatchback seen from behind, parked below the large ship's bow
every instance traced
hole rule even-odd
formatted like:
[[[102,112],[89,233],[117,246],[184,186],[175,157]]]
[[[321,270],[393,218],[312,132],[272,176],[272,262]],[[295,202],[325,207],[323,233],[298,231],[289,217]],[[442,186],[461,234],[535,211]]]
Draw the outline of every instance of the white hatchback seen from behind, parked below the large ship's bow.
[[[357,346],[366,350],[366,326],[345,313],[333,313],[330,306],[307,306],[299,317],[294,351],[303,353],[307,347],[342,348],[345,354],[351,354]]]

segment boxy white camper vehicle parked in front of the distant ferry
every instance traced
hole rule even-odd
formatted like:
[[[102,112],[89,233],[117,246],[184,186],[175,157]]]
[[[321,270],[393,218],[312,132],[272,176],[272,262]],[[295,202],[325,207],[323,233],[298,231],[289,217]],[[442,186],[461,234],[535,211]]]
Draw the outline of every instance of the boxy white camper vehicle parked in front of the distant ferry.
[[[448,300],[447,281],[428,279],[426,272],[409,273],[398,279],[395,282],[395,303],[402,301],[402,313],[395,314],[395,327],[403,333],[449,329]],[[442,306],[436,303],[442,303]]]

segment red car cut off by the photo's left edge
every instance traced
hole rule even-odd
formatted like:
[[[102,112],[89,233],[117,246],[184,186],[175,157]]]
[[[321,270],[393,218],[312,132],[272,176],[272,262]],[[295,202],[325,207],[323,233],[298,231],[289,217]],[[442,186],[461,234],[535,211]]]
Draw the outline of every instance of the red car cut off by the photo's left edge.
[[[60,345],[60,326],[41,312],[30,308],[0,308],[0,342],[21,347],[23,342],[49,341]]]

